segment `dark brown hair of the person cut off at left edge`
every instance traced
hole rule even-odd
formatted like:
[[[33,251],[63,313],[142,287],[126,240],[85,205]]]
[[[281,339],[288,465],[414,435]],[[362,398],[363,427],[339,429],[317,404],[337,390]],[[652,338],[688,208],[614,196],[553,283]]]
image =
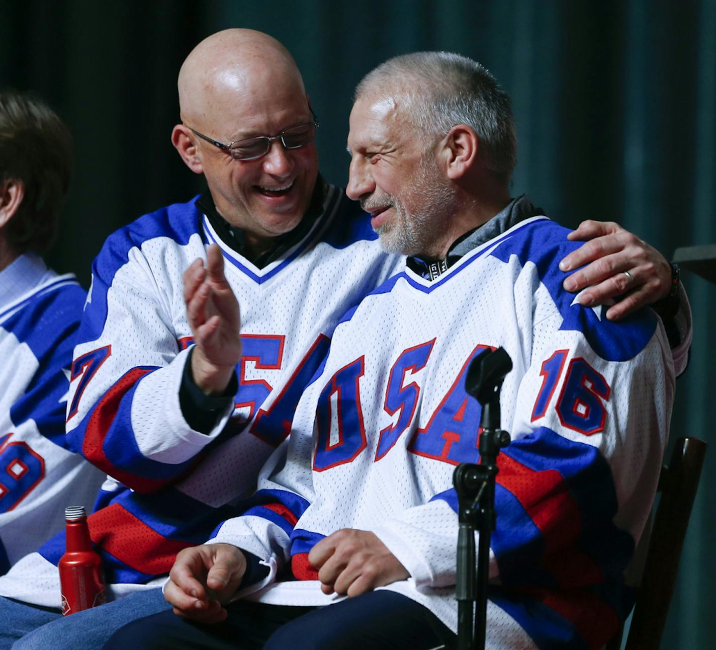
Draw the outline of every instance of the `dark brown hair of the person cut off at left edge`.
[[[12,178],[25,188],[6,229],[15,252],[52,244],[71,176],[72,136],[57,114],[30,93],[0,92],[0,183]]]

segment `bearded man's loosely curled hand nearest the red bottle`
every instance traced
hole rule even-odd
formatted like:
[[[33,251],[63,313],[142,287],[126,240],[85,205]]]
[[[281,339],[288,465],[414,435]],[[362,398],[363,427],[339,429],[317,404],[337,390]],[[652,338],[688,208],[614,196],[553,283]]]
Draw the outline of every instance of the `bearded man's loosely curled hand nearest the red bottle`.
[[[227,603],[246,572],[246,556],[231,544],[204,544],[181,550],[169,572],[164,597],[177,616],[200,623],[226,618]]]

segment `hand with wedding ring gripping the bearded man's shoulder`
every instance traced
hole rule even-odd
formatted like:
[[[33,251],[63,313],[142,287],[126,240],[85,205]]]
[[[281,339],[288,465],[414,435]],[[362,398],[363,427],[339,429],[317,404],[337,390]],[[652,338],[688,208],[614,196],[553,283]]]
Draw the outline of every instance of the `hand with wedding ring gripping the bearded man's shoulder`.
[[[579,303],[586,307],[616,299],[606,310],[609,320],[619,320],[639,307],[665,297],[671,288],[669,262],[654,247],[612,221],[582,221],[568,236],[586,242],[560,263],[562,271],[587,264],[563,282],[570,292],[589,287]]]

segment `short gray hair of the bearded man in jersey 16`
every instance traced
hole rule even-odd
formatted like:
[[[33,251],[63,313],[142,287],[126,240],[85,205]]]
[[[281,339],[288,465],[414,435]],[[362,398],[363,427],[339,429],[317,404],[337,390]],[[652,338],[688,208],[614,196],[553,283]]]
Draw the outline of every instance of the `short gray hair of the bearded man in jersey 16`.
[[[450,52],[414,52],[388,59],[356,87],[354,100],[374,90],[400,89],[410,98],[410,120],[427,137],[466,124],[480,138],[480,156],[508,182],[517,163],[510,96],[487,68]]]

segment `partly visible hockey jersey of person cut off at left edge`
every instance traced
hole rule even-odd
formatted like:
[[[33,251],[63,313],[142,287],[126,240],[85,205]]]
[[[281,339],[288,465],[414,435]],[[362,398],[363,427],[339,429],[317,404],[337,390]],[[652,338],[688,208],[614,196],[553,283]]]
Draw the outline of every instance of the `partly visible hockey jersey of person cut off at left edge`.
[[[0,574],[90,507],[102,474],[67,449],[64,414],[84,304],[73,275],[24,254],[0,295]]]

